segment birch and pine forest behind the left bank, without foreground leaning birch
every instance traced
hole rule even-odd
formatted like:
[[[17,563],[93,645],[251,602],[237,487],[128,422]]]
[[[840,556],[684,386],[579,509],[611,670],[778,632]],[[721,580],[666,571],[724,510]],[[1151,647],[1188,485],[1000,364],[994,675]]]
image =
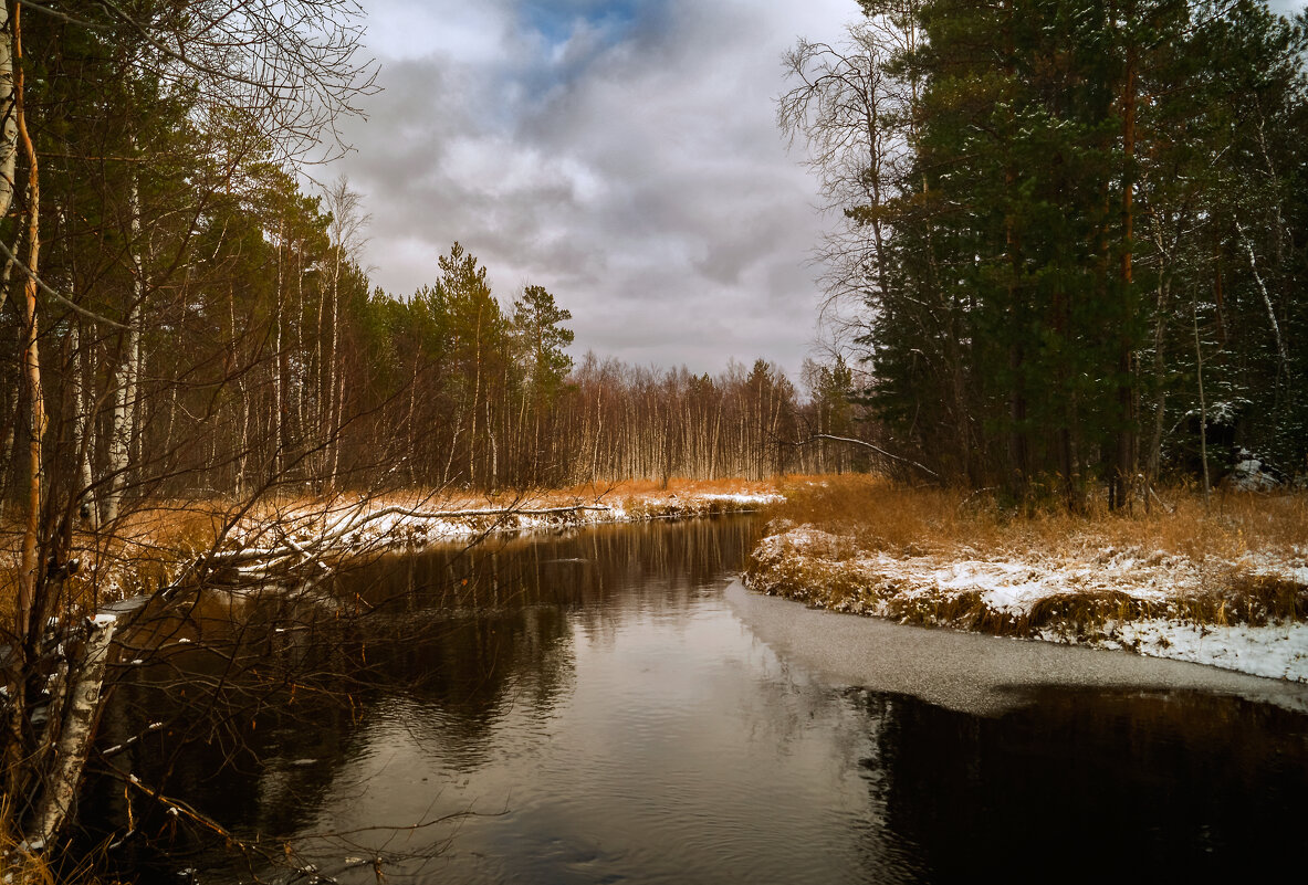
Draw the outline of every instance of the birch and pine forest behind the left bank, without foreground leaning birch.
[[[16,88],[22,150],[9,162],[31,183],[0,231],[0,501],[10,515],[30,507],[37,477],[42,537],[167,497],[852,463],[840,446],[794,444],[852,431],[841,366],[806,369],[812,403],[761,359],[715,378],[593,354],[574,366],[555,295],[492,293],[459,243],[433,256],[430,285],[382,292],[360,267],[360,195],[314,184],[323,167],[297,153],[327,139],[305,129],[313,115],[345,105],[250,119],[249,97],[235,107],[174,76],[162,13],[153,34],[112,16],[24,21],[12,69],[33,73]],[[337,101],[366,82],[352,88]]]

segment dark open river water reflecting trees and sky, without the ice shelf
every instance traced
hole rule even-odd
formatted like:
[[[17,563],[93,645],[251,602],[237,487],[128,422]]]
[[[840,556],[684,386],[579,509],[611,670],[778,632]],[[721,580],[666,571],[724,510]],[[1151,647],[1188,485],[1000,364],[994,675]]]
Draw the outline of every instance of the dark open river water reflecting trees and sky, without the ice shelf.
[[[106,731],[166,723],[111,761],[252,847],[109,778],[89,817],[141,834],[110,852],[124,877],[174,882],[285,881],[268,858],[286,843],[341,882],[378,881],[374,858],[386,881],[424,882],[1175,881],[1300,863],[1304,715],[1048,688],[976,716],[832,684],[723,595],[756,531],[492,543],[381,561],[330,599],[229,603],[224,635],[251,656],[234,669],[182,643],[122,686]],[[153,641],[218,630],[204,624]],[[241,686],[222,695],[241,715],[207,714],[205,684]],[[182,735],[203,741],[173,752]]]

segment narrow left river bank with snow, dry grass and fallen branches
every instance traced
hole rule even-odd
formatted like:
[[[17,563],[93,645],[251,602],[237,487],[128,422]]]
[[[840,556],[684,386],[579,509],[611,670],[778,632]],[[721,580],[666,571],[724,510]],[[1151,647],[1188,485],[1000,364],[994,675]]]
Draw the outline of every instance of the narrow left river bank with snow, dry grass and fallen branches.
[[[774,482],[628,480],[569,489],[267,494],[242,501],[161,501],[112,527],[73,533],[63,575],[75,609],[150,595],[196,573],[226,582],[293,580],[395,549],[473,543],[506,532],[756,510],[781,501]],[[17,539],[17,532],[5,537]],[[0,609],[12,607],[18,552],[0,552]]]

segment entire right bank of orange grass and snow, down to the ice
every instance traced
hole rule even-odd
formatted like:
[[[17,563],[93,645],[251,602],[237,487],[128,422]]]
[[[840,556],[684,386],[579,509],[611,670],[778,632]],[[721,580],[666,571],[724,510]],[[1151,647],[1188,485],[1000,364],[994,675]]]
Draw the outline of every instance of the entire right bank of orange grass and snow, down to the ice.
[[[1308,494],[1160,495],[1150,512],[1014,515],[977,495],[808,478],[746,583],[905,624],[1126,648],[1308,681]]]

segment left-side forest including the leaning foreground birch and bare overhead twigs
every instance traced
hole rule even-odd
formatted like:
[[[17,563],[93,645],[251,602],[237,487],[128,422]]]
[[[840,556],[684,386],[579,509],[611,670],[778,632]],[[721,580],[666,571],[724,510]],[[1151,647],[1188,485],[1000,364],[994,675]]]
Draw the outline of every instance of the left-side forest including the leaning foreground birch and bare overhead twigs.
[[[815,438],[853,433],[838,362],[811,397],[764,359],[574,365],[566,293],[493,293],[458,242],[374,286],[330,178],[375,92],[362,29],[337,0],[0,4],[0,848],[67,834],[115,567],[194,591],[267,502],[855,467]]]

